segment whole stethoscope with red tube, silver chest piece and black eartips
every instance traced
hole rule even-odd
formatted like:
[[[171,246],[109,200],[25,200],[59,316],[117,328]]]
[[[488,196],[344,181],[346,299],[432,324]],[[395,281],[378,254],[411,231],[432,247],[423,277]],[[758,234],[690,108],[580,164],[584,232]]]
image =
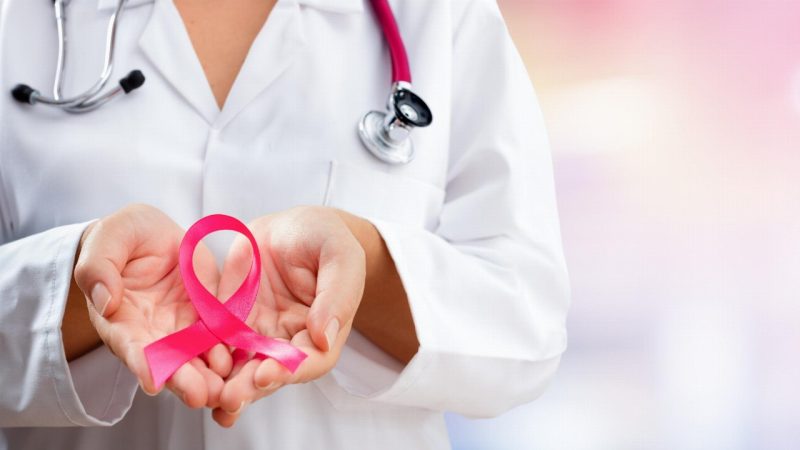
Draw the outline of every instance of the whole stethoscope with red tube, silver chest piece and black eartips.
[[[67,59],[64,22],[68,1],[53,1],[58,30],[58,60],[53,81],[53,96],[42,95],[41,92],[26,84],[15,86],[11,90],[11,95],[20,103],[31,105],[41,103],[69,113],[85,113],[99,108],[120,94],[129,94],[138,89],[144,84],[145,77],[141,71],[132,70],[119,80],[118,86],[101,92],[111,79],[119,16],[127,3],[127,0],[117,0],[117,7],[108,20],[105,60],[99,79],[82,94],[64,98],[61,90],[64,81],[64,65]],[[411,69],[408,65],[408,55],[388,1],[371,0],[370,3],[389,46],[392,61],[392,91],[389,94],[386,111],[370,111],[364,114],[358,123],[358,135],[370,153],[381,161],[388,164],[407,164],[414,159],[411,131],[417,127],[430,125],[433,114],[422,98],[411,90]]]

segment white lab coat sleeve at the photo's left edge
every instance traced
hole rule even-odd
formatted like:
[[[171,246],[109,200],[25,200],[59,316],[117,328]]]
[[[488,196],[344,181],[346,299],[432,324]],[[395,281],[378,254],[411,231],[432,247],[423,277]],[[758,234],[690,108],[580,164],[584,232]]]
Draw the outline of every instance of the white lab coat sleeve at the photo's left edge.
[[[0,245],[0,427],[111,425],[136,379],[105,347],[67,363],[61,320],[87,224]]]

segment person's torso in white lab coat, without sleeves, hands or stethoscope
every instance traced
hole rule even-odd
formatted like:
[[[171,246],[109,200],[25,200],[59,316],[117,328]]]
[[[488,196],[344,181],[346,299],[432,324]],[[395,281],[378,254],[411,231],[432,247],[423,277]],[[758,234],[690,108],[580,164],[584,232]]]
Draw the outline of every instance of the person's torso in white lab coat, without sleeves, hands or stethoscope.
[[[99,75],[115,3],[69,2],[66,95]],[[142,88],[79,115],[0,96],[2,242],[130,203],[152,204],[184,226],[211,213],[247,221],[317,204],[434,229],[448,169],[451,5],[393,6],[414,88],[434,114],[413,133],[410,164],[380,162],[357,135],[361,116],[384,110],[390,89],[388,50],[366,3],[279,1],[219,111],[174,5],[131,0],[111,83],[140,69]],[[4,0],[1,8],[0,88],[24,82],[49,94],[52,3]],[[322,383],[251,405],[232,430],[171,397],[139,395],[112,428],[3,433],[13,449],[447,447],[440,413],[330,395],[338,388]]]

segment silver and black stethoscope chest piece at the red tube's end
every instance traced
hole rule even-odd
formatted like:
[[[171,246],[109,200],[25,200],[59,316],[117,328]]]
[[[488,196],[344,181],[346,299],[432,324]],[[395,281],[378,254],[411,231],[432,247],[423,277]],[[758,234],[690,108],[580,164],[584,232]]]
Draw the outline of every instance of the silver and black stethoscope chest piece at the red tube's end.
[[[361,142],[376,158],[388,164],[408,164],[414,159],[411,131],[433,120],[430,108],[408,87],[396,83],[386,112],[370,111],[358,123]]]

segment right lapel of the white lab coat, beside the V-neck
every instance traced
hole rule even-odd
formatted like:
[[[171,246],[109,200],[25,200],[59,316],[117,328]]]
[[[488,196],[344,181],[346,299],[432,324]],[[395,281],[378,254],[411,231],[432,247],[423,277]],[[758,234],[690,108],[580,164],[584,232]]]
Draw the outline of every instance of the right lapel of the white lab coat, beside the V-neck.
[[[223,128],[275,81],[305,42],[297,1],[278,1],[253,41],[214,128]]]

